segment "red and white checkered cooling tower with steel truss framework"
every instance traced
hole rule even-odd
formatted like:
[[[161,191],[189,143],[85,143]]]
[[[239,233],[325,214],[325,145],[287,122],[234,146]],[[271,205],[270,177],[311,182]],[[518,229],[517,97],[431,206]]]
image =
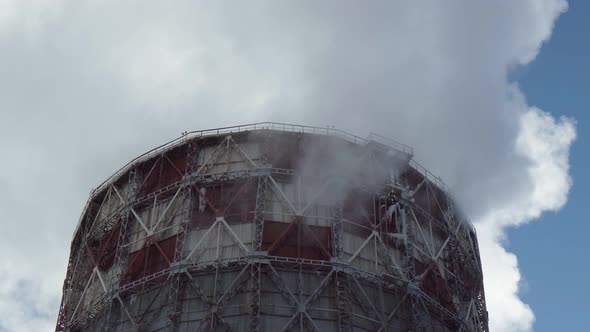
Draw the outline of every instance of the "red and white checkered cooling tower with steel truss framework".
[[[407,146],[184,133],[101,184],[56,331],[488,331],[474,228]]]

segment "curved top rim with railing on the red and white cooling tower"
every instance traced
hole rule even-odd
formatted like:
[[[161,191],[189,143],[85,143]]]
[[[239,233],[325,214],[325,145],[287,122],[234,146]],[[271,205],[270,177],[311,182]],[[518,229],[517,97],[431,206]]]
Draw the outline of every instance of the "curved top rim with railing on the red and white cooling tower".
[[[443,190],[447,194],[449,194],[449,189],[442,181],[439,176],[434,175],[430,171],[428,171],[424,166],[418,163],[416,160],[413,159],[414,157],[414,149],[406,144],[400,143],[398,141],[392,140],[385,136],[376,134],[371,132],[366,138],[351,134],[349,132],[337,129],[335,127],[316,127],[316,126],[307,126],[307,125],[297,125],[297,124],[290,124],[290,123],[283,123],[283,122],[257,122],[257,123],[249,123],[243,125],[236,125],[236,126],[228,126],[228,127],[219,127],[219,128],[212,128],[212,129],[202,129],[202,130],[192,130],[183,132],[181,136],[176,137],[164,144],[156,146],[149,151],[142,153],[141,155],[133,158],[123,167],[119,168],[115,173],[109,176],[106,180],[104,180],[100,185],[96,188],[92,189],[89,198],[84,206],[82,211],[85,211],[89,202],[96,197],[96,195],[100,194],[105,188],[110,186],[112,183],[116,182],[123,174],[127,171],[131,170],[134,166],[150,159],[158,154],[164,153],[178,145],[182,145],[190,139],[200,138],[200,137],[212,137],[212,136],[219,136],[231,133],[242,133],[242,132],[249,132],[249,131],[259,131],[259,130],[273,130],[273,131],[280,131],[280,132],[290,132],[290,133],[302,133],[302,134],[310,134],[310,135],[320,135],[320,136],[330,136],[330,137],[337,137],[340,139],[344,139],[348,142],[358,144],[358,145],[366,145],[369,142],[378,142],[387,146],[390,149],[395,151],[404,153],[408,157],[408,163],[418,172],[420,172],[426,179],[434,183],[439,189]],[[78,232],[78,228],[82,222],[82,218],[84,213],[80,216],[78,220],[78,224],[76,225],[76,229],[74,231],[74,235]],[[475,229],[472,227],[473,231]]]

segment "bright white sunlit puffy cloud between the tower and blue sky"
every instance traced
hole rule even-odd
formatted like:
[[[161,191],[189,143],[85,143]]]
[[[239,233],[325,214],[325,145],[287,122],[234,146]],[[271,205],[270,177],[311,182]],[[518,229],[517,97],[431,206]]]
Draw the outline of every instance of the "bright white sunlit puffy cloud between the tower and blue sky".
[[[532,328],[534,314],[518,300],[522,276],[517,258],[501,246],[504,227],[529,222],[543,211],[555,211],[565,204],[571,186],[569,147],[575,136],[571,119],[556,121],[534,107],[521,115],[516,147],[530,161],[527,169],[531,187],[520,195],[510,195],[510,204],[490,208],[477,224],[481,255],[485,259],[487,305],[492,314],[503,317],[492,321],[492,330],[530,331]]]

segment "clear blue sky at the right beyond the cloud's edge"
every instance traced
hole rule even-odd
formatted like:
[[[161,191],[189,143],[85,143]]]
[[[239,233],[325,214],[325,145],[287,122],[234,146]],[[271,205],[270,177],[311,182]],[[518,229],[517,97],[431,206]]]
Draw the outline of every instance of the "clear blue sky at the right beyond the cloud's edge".
[[[536,315],[534,331],[587,331],[590,304],[590,2],[571,1],[535,61],[515,74],[530,105],[577,121],[571,149],[574,185],[566,206],[540,222],[512,229],[508,248],[519,257],[521,293]]]

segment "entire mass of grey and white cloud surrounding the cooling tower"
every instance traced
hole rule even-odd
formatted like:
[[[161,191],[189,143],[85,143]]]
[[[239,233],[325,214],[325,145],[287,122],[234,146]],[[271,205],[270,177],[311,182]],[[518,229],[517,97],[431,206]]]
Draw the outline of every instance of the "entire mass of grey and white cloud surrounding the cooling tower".
[[[507,75],[566,7],[0,1],[0,331],[53,328],[92,186],[181,131],[263,120],[414,146],[477,224],[492,330],[530,330],[504,231],[565,203],[575,123]]]

